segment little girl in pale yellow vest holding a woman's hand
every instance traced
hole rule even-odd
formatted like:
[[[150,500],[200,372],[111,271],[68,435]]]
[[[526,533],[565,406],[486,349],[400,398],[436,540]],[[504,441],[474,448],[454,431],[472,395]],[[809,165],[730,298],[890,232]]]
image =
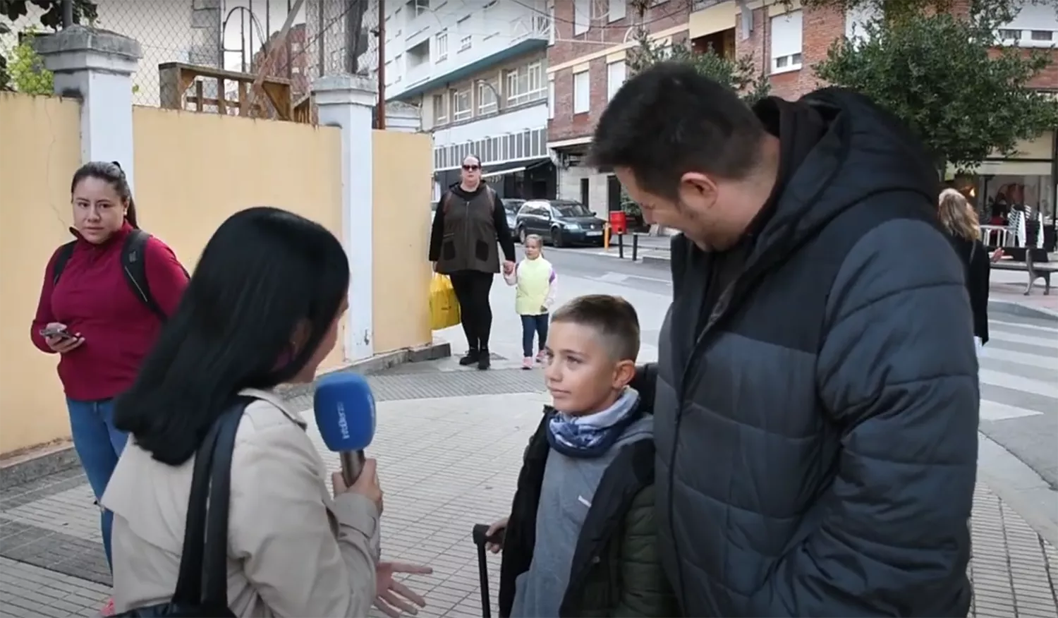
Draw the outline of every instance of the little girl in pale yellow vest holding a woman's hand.
[[[514,310],[522,316],[522,360],[523,369],[531,369],[533,335],[540,340],[536,362],[544,362],[544,345],[547,343],[548,311],[554,304],[558,277],[554,267],[544,259],[544,239],[535,234],[526,236],[526,257],[517,263],[511,274],[505,274],[508,286],[517,286]]]

